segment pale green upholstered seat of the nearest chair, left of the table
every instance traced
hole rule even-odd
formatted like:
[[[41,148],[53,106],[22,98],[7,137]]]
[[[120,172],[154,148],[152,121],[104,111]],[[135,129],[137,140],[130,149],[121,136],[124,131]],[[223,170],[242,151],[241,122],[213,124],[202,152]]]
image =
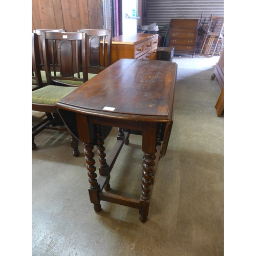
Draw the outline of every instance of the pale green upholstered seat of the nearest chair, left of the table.
[[[76,87],[46,86],[32,92],[32,103],[55,105]]]

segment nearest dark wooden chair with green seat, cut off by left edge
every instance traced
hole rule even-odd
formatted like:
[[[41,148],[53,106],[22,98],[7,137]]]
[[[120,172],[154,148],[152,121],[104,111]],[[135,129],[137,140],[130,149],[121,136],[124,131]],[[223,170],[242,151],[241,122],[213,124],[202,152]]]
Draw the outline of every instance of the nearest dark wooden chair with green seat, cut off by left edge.
[[[80,39],[84,42],[84,34],[80,33]],[[68,131],[71,136],[71,147],[73,148],[73,156],[79,156],[78,140],[67,129],[62,119],[60,118],[55,104],[69,93],[73,92],[77,87],[61,87],[61,86],[42,86],[40,70],[40,56],[38,53],[38,35],[32,32],[32,67],[35,70],[35,78],[39,89],[32,91],[32,111],[44,112],[46,118],[39,123],[32,124],[32,150],[37,148],[34,139],[37,134],[45,129]]]

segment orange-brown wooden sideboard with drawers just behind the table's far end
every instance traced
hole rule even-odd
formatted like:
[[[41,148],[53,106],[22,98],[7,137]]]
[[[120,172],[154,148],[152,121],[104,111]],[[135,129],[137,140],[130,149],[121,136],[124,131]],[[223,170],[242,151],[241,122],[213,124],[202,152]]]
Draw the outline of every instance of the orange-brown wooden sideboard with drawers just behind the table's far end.
[[[134,34],[112,38],[112,64],[119,59],[156,59],[158,34]]]

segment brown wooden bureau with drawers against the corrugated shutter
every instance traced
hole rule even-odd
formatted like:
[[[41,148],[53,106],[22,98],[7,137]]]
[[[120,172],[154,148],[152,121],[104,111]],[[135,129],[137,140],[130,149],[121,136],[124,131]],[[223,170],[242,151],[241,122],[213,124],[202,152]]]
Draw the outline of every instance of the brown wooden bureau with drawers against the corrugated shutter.
[[[171,19],[168,47],[175,47],[174,54],[191,54],[194,58],[197,32],[198,19]]]

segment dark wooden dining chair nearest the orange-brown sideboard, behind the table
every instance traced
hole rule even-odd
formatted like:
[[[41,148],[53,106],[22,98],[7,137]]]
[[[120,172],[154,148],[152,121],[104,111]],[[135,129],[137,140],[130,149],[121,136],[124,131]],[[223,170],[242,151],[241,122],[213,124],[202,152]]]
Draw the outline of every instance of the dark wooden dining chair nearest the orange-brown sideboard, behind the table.
[[[111,65],[112,32],[109,29],[79,29],[78,31],[87,34],[88,72],[89,76],[96,75]]]

